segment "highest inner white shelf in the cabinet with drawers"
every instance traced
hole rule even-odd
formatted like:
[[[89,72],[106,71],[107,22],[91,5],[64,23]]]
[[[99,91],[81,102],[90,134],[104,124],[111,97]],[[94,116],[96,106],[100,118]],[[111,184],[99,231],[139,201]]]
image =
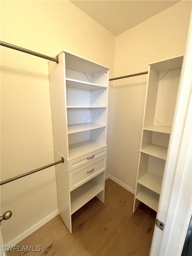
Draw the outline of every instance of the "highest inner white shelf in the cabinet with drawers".
[[[71,78],[66,78],[66,87],[86,89],[86,90],[106,88],[106,86],[102,86],[99,84],[93,84],[93,83],[89,83],[89,82],[84,82],[84,81],[80,81],[80,80],[75,80],[75,79],[71,79]]]

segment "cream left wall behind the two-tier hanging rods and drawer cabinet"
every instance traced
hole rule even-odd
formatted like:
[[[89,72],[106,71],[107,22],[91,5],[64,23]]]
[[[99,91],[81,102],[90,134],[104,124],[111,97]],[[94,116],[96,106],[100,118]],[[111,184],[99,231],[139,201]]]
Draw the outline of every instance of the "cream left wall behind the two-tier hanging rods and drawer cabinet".
[[[69,1],[1,1],[1,40],[111,67],[115,36]],[[1,180],[54,162],[48,61],[1,47]],[[110,90],[111,91],[111,90]],[[58,210],[55,168],[1,186],[4,243]],[[29,230],[30,231],[30,230]]]

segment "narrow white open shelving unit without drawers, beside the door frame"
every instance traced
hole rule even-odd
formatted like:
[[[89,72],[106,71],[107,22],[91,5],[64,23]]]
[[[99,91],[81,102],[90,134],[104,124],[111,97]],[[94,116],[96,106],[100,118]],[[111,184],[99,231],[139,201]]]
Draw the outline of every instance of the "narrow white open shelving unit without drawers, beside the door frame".
[[[133,212],[157,211],[169,148],[183,56],[149,64]]]

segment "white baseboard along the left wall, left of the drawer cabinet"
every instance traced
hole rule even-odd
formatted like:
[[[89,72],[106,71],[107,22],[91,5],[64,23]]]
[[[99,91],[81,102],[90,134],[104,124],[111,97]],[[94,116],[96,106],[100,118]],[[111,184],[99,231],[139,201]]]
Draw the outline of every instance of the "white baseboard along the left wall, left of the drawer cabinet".
[[[25,239],[27,236],[31,235],[33,232],[35,232],[37,229],[39,229],[40,227],[42,227],[43,225],[45,225],[47,222],[49,222],[50,220],[52,220],[54,217],[56,217],[59,214],[59,210],[57,209],[56,211],[52,212],[51,214],[49,214],[47,217],[45,217],[44,219],[42,219],[41,221],[39,221],[38,223],[36,223],[35,225],[33,225],[32,227],[30,227],[29,229],[27,229],[26,231],[24,231],[23,233],[21,233],[20,235],[18,235],[17,237],[13,238],[10,242],[8,242],[5,246],[13,246],[18,244],[19,242],[21,242],[23,239]]]

